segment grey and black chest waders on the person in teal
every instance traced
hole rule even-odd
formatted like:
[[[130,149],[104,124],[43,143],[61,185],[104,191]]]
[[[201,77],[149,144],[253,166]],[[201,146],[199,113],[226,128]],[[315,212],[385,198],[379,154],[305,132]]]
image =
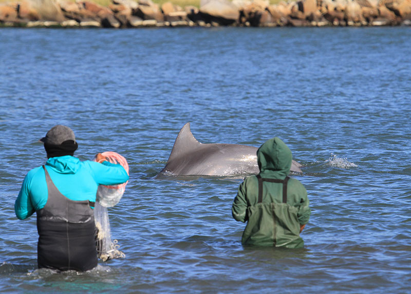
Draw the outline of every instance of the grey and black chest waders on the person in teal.
[[[43,165],[48,198],[37,211],[38,267],[86,271],[97,266],[94,202],[73,201],[60,193]]]

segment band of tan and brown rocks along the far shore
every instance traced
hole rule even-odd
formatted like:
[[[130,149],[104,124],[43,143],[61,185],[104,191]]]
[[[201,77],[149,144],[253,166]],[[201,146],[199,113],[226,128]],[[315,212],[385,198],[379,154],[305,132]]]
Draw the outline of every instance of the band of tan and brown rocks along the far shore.
[[[0,4],[3,27],[323,27],[411,25],[411,0],[202,0],[200,7],[159,6],[151,0],[76,0]]]

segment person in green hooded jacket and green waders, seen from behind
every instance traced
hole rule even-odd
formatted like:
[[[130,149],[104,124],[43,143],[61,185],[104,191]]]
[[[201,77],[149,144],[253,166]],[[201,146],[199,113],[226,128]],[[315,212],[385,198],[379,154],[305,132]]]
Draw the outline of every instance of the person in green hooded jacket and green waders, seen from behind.
[[[291,150],[278,137],[257,150],[260,172],[239,186],[232,206],[235,220],[246,222],[243,245],[302,248],[300,237],[311,214],[303,184],[288,177]]]

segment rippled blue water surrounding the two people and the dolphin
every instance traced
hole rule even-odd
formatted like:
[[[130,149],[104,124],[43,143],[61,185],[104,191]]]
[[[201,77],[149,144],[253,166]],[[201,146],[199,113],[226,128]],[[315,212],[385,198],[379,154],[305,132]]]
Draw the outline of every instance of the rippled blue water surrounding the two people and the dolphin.
[[[0,29],[0,292],[411,292],[411,30]],[[202,143],[279,136],[303,175],[305,248],[242,247],[242,177],[156,179],[180,128]],[[36,141],[56,124],[81,160],[130,166],[109,209],[124,259],[36,270],[17,220]]]

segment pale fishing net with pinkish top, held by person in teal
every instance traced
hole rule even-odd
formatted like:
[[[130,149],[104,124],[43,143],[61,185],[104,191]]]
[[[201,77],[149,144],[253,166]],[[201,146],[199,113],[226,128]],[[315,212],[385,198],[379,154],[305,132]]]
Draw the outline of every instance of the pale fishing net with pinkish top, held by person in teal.
[[[119,163],[128,174],[128,164],[124,157],[116,152],[101,153],[108,162]],[[94,159],[95,161],[96,158]],[[111,238],[110,222],[108,220],[107,207],[116,205],[124,194],[127,182],[115,186],[100,185],[97,190],[96,204],[94,207],[94,218],[96,223],[96,247],[97,255],[102,261],[114,258],[124,258],[125,254],[120,251],[120,245],[116,239]]]

